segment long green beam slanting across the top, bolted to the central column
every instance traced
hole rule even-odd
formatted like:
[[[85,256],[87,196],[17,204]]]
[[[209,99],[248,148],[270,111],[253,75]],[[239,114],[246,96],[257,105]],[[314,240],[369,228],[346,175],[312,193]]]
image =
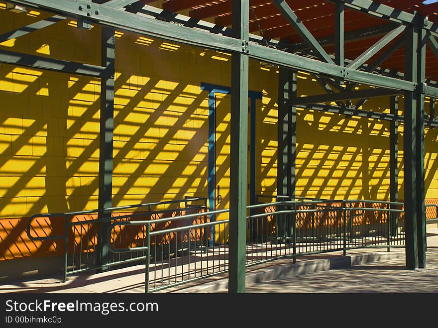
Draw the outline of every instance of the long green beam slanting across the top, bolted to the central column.
[[[361,83],[365,85],[413,91],[416,86],[409,81],[402,81],[387,76],[381,76],[348,68],[340,68],[337,65],[313,60],[303,56],[298,56],[284,51],[272,49],[259,44],[250,43],[246,48],[242,48],[242,41],[235,38],[226,37],[207,31],[193,29],[165,21],[150,19],[142,15],[136,15],[123,10],[109,8],[105,5],[92,3],[91,8],[87,8],[88,1],[77,0],[15,0],[14,2],[26,5],[40,6],[49,11],[62,12],[73,16],[88,17],[92,21],[105,26],[133,31],[143,35],[151,35],[167,40],[192,44],[211,49],[224,50],[229,52],[246,51],[251,58],[298,69],[310,73],[318,73],[342,78],[347,81]],[[79,7],[82,6],[82,9]]]

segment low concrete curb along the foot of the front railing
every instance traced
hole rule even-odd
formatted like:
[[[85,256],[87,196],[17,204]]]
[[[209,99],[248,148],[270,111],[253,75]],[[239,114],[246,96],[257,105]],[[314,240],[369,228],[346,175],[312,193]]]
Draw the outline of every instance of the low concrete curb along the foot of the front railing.
[[[347,268],[354,265],[362,265],[372,262],[380,262],[389,259],[400,259],[405,257],[405,252],[390,253],[363,253],[347,256],[333,256],[327,259],[311,259],[297,263],[279,264],[274,267],[261,268],[255,272],[246,273],[246,283],[266,282],[281,278],[292,278],[308,273],[315,273],[330,269]],[[270,262],[273,263],[273,262]],[[185,288],[174,293],[209,293],[228,289],[228,279],[222,278],[215,282],[200,284]]]

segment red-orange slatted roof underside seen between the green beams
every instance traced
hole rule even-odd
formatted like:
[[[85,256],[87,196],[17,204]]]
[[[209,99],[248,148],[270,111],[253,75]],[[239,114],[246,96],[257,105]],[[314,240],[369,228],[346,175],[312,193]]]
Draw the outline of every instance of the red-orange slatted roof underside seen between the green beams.
[[[427,15],[430,21],[438,23],[438,3],[422,4],[424,0],[375,0],[407,12],[414,10]],[[231,0],[143,0],[157,8],[182,13],[190,17],[215,22],[223,26],[231,26]],[[323,0],[286,0],[304,25],[317,39],[334,35],[334,4]],[[302,39],[280,14],[276,6],[266,0],[250,0],[249,11],[250,33],[265,36],[268,39],[287,39],[291,43],[300,43]],[[390,24],[386,19],[368,15],[353,9],[345,8],[345,33]],[[358,39],[346,40],[344,44],[345,58],[354,59],[382,38],[384,34]],[[399,36],[402,37],[402,36]],[[395,40],[394,40],[395,41]],[[393,42],[394,42],[393,41]],[[379,53],[384,52],[387,45]],[[329,54],[334,54],[334,45],[323,45]],[[373,58],[377,58],[376,54]],[[372,62],[371,58],[368,62]],[[397,50],[381,67],[404,71],[404,47]],[[438,81],[438,58],[427,47],[426,77]]]

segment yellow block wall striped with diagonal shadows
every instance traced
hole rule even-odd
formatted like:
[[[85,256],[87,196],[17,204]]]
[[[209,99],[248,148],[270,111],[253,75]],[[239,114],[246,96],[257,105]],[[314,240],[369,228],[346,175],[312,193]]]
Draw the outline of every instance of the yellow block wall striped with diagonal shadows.
[[[0,8],[0,33],[48,16]],[[0,47],[99,65],[99,44],[100,27],[79,29],[66,19]],[[200,84],[230,86],[230,60],[116,33],[113,206],[207,197],[208,93]],[[276,192],[277,74],[277,67],[250,61],[249,89],[263,92],[256,106],[257,194]],[[299,95],[322,92],[299,74]],[[0,64],[0,102],[0,259],[9,259],[35,247],[13,218],[98,207],[100,81]],[[388,104],[374,99],[363,108],[388,111]],[[297,126],[298,196],[389,198],[388,122],[298,109]],[[426,131],[427,198],[438,198],[437,131]]]

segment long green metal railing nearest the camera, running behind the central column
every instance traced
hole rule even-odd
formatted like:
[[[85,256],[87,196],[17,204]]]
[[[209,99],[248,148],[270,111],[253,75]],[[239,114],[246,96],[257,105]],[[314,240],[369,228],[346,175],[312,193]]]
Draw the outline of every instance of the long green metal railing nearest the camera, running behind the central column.
[[[246,266],[291,257],[363,247],[404,247],[403,203],[379,201],[279,201],[248,206]],[[112,233],[144,226],[146,243],[110,251],[146,254],[145,292],[157,292],[228,270],[229,219],[208,222],[229,210],[170,218],[173,228],[154,229],[165,219],[114,222]],[[169,219],[166,219],[167,221]],[[193,224],[188,221],[195,220]],[[196,222],[196,220],[201,220]],[[211,227],[214,227],[212,233]],[[249,226],[253,226],[251,231]],[[214,239],[209,247],[209,239]],[[110,242],[110,239],[108,240]]]

